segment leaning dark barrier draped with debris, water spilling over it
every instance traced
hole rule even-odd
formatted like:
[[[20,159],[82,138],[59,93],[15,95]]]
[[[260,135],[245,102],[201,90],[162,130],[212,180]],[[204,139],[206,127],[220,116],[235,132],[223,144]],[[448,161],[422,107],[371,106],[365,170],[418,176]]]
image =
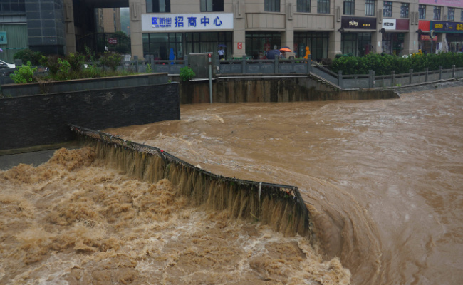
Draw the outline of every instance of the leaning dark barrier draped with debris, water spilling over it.
[[[140,180],[167,178],[196,207],[229,211],[231,217],[267,224],[287,236],[311,237],[312,223],[298,187],[215,175],[157,147],[70,125],[77,140],[95,146],[97,157]]]

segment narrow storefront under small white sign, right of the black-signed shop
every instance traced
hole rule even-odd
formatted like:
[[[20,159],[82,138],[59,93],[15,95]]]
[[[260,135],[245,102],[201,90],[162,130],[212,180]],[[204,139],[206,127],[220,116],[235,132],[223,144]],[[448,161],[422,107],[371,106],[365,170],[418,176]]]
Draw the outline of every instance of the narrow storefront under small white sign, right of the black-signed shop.
[[[381,46],[383,53],[402,56],[405,33],[408,32],[408,19],[383,19]]]

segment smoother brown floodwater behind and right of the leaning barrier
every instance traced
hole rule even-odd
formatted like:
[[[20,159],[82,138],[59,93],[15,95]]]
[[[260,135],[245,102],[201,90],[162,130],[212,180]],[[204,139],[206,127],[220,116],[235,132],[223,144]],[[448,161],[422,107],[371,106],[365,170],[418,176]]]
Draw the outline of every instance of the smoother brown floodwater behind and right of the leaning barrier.
[[[217,174],[296,185],[352,284],[462,284],[462,93],[182,105],[180,121],[109,132]]]

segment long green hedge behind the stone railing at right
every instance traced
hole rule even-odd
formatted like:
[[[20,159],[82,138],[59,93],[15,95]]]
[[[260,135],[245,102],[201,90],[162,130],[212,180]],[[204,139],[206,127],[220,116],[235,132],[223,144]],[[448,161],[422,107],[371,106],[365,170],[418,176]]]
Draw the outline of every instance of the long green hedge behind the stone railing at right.
[[[375,71],[375,75],[387,75],[391,71],[396,74],[408,73],[410,69],[415,72],[425,71],[425,68],[435,71],[439,66],[449,69],[453,65],[457,68],[463,67],[463,53],[415,53],[406,58],[379,53],[362,57],[342,56],[333,60],[331,70],[335,73],[343,71],[345,75],[368,74],[370,70]]]

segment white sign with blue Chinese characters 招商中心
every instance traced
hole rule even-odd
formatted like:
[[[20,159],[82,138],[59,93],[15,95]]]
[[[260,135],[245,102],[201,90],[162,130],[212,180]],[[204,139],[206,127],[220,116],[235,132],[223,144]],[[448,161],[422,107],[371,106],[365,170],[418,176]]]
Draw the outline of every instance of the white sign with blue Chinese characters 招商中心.
[[[233,13],[142,14],[142,31],[231,31]]]

